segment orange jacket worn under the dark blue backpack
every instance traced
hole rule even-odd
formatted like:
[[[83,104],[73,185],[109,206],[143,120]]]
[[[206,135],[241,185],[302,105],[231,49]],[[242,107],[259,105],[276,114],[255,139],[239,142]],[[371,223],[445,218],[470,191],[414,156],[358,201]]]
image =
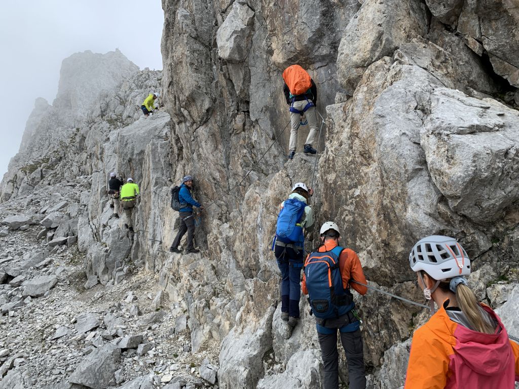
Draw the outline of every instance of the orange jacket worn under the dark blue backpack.
[[[337,246],[337,243],[333,240],[327,241],[321,247],[317,249],[319,253],[325,253],[327,251],[332,251],[334,247]],[[308,258],[308,257],[307,257]],[[360,263],[360,259],[355,254],[355,252],[350,248],[345,248],[339,256],[339,269],[340,275],[343,278],[343,287],[346,289],[348,287],[352,287],[357,290],[361,295],[365,295],[367,292],[367,288],[365,286],[352,283],[348,285],[348,281],[353,279],[355,281],[362,282],[363,284],[367,284],[366,277],[364,276],[364,272],[362,271],[362,265]],[[305,295],[308,294],[308,289],[306,288],[306,278],[305,273],[303,272],[303,293]]]

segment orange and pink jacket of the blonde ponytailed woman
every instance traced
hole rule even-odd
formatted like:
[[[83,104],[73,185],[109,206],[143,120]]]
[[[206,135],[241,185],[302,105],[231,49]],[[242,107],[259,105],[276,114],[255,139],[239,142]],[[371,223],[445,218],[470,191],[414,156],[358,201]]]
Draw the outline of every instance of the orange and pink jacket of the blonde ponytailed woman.
[[[445,305],[445,304],[444,304]],[[499,317],[495,334],[473,331],[450,319],[442,306],[413,335],[405,389],[513,389],[519,379],[519,345]]]

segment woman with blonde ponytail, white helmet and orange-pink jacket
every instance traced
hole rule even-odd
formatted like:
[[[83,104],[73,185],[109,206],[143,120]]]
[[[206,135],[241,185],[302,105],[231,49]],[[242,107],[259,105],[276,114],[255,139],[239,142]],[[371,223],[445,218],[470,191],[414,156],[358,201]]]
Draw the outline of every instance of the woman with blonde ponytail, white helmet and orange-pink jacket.
[[[438,312],[413,335],[406,389],[514,388],[519,345],[496,313],[467,286],[470,259],[453,238],[419,240],[409,254],[418,286]]]

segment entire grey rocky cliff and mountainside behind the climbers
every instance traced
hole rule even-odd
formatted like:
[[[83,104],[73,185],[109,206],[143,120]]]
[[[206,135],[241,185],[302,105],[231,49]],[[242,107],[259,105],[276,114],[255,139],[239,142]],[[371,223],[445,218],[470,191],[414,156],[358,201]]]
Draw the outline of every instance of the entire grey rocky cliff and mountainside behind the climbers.
[[[52,106],[36,102],[29,135],[0,187],[2,219],[28,208],[23,212],[44,228],[37,236],[46,242],[35,246],[48,244],[54,261],[74,253],[70,262],[87,276],[69,272],[66,280],[80,289],[101,284],[84,292],[92,309],[67,318],[77,318],[76,334],[63,329],[66,335],[51,340],[71,338],[83,347],[79,355],[89,353],[71,382],[128,380],[142,387],[151,384],[140,379],[147,370],[154,386],[181,387],[188,378],[173,377],[176,366],[162,364],[162,357],[145,362],[166,354],[158,350],[174,337],[183,344],[170,354],[190,352],[198,364],[218,361],[199,371],[212,383],[217,370],[220,388],[321,387],[314,319],[302,299],[301,320],[287,336],[270,251],[279,204],[301,181],[315,189],[317,228],[307,234],[306,251],[318,245],[320,224],[333,220],[372,285],[421,301],[409,249],[426,235],[452,235],[472,260],[469,282],[477,297],[501,305],[503,321],[516,327],[516,299],[508,297],[519,267],[519,29],[512,2],[164,0],[162,6],[163,73],[132,71],[120,53],[106,57],[107,67],[120,66],[126,76],[108,83],[89,70],[77,82],[65,72],[72,89],[62,82]],[[94,57],[86,53],[85,61]],[[293,63],[316,82],[322,130],[314,144],[319,154],[298,152],[287,161],[281,74]],[[75,89],[89,77],[93,86],[78,97]],[[143,118],[142,99],[160,89],[165,109]],[[299,132],[301,151],[307,129]],[[64,147],[53,146],[62,139]],[[141,188],[134,233],[108,204],[114,171]],[[207,209],[196,229],[200,254],[178,255],[168,252],[180,222],[170,188],[186,174],[194,175],[194,196]],[[9,231],[0,239],[30,233]],[[67,245],[50,245],[57,240]],[[26,305],[46,299],[19,297],[16,288],[26,289],[33,279],[26,271],[34,271],[20,266],[22,248],[0,259],[7,260],[0,274],[9,288],[0,293],[2,312],[20,320],[29,314]],[[136,275],[146,282],[127,284]],[[167,298],[146,290],[155,280]],[[137,291],[148,296],[139,305]],[[103,299],[113,300],[101,313]],[[401,387],[409,339],[426,313],[372,291],[354,299],[371,387]],[[125,315],[118,313],[121,304],[128,305]],[[46,339],[66,325],[56,324]],[[163,328],[168,335],[152,344]],[[214,350],[218,355],[202,354]],[[142,358],[139,371],[120,370],[117,353],[125,354],[125,364]],[[340,379],[347,383],[343,359]],[[102,361],[110,369],[90,376],[96,370],[88,366]],[[202,385],[197,380],[188,385]]]

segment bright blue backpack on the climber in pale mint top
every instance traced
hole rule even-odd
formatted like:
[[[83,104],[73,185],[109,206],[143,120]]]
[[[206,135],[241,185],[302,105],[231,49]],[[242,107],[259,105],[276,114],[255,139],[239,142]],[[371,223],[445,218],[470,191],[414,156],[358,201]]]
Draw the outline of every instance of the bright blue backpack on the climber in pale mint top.
[[[303,227],[299,224],[305,213],[306,203],[297,199],[285,200],[278,215],[276,239],[283,243],[303,242]]]

